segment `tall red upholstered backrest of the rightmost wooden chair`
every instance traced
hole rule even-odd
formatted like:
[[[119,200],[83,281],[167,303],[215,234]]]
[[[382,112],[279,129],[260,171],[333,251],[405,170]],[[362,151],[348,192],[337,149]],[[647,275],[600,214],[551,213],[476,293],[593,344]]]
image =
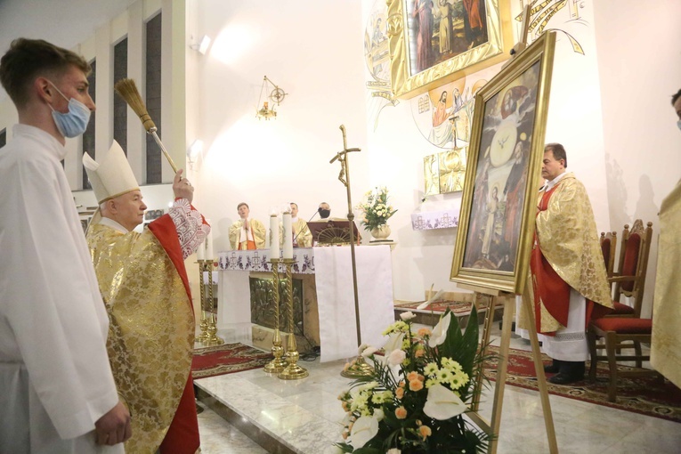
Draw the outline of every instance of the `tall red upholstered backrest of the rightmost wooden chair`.
[[[624,226],[617,271],[612,272],[612,274],[609,273],[608,276],[608,281],[611,285],[614,284],[612,301],[615,305],[614,312],[611,312],[609,316],[636,318],[641,316],[645,274],[648,271],[648,255],[650,255],[652,239],[653,223],[648,223],[644,229],[643,221],[636,219],[630,231],[628,225]],[[602,242],[601,249],[603,250],[603,248]],[[613,249],[612,252],[614,252]],[[621,303],[622,296],[632,298],[634,305]]]

